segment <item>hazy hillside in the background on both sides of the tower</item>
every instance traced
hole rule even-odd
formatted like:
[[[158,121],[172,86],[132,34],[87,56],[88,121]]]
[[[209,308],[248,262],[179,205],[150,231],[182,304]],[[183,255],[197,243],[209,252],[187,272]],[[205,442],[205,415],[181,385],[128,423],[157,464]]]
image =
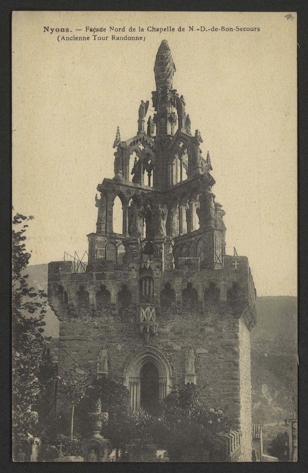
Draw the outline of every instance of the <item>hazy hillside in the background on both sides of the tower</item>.
[[[47,291],[47,264],[28,266],[28,283]],[[297,400],[297,298],[258,297],[251,333],[253,422],[283,421]],[[59,322],[46,315],[45,334],[58,337]]]

